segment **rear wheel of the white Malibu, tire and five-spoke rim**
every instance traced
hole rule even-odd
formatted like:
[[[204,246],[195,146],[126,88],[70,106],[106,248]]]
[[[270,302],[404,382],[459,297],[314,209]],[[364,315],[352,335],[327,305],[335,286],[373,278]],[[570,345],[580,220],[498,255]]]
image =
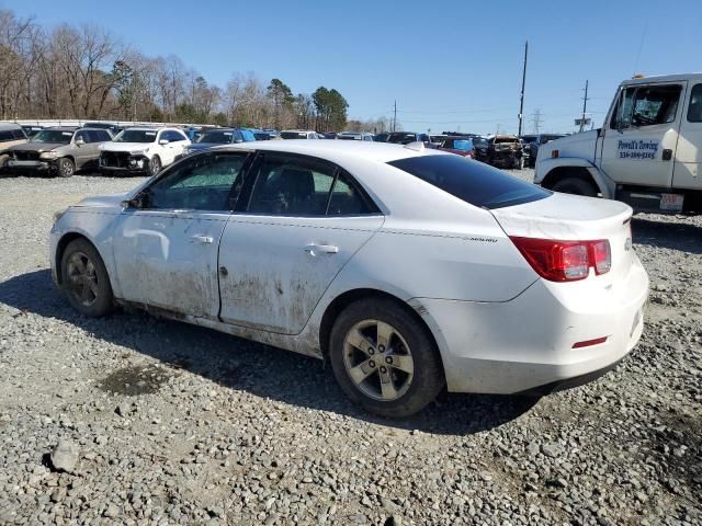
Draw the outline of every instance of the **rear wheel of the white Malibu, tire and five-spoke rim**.
[[[421,411],[445,385],[441,357],[427,329],[407,308],[385,298],[355,301],[339,315],[329,339],[329,361],[353,402],[389,419]]]

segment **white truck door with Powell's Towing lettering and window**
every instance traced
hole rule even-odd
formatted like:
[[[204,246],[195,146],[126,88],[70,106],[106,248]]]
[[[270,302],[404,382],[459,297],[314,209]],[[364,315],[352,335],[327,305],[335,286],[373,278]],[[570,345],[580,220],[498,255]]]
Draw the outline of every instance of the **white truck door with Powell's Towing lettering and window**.
[[[670,187],[687,82],[627,85],[602,129],[600,169],[618,184]]]

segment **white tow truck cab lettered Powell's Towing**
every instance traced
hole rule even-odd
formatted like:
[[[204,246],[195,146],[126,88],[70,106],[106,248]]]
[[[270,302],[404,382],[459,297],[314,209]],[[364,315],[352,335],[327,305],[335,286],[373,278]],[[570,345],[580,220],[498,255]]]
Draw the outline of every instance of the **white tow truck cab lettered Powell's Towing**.
[[[702,73],[623,81],[599,129],[539,149],[534,182],[642,211],[702,213]]]

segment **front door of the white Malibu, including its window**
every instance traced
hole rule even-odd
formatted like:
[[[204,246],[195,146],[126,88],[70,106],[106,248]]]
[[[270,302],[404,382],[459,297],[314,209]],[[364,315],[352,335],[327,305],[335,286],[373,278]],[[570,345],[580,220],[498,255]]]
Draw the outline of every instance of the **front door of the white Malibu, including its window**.
[[[123,299],[216,319],[219,240],[248,156],[192,156],[137,195],[138,206],[123,211],[114,233]]]

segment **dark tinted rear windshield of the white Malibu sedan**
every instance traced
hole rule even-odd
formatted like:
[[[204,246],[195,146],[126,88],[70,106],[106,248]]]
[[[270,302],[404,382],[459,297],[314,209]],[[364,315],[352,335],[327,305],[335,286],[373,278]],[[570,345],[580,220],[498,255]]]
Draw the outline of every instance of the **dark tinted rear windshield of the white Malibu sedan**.
[[[388,164],[480,208],[503,208],[551,195],[547,190],[461,156],[408,157]]]

